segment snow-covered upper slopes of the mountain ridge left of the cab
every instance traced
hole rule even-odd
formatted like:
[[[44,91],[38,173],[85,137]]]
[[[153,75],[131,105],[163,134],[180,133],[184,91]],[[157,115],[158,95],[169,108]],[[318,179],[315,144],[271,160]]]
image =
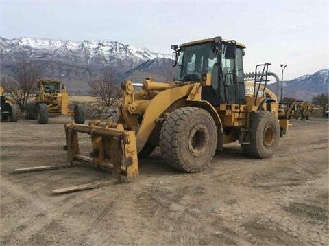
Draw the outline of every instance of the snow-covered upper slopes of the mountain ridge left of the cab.
[[[151,52],[144,47],[123,45],[116,41],[62,41],[42,38],[0,38],[0,58],[4,61],[56,60],[75,65],[99,64],[133,69],[154,58],[171,58],[170,54]]]

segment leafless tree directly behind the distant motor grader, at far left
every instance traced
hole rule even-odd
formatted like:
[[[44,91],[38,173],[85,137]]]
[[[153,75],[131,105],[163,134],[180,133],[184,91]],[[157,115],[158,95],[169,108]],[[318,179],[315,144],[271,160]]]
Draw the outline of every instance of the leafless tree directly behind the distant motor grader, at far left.
[[[35,62],[22,59],[16,62],[16,74],[12,78],[2,79],[3,89],[19,104],[21,113],[24,112],[29,98],[35,93],[40,76],[40,67]]]

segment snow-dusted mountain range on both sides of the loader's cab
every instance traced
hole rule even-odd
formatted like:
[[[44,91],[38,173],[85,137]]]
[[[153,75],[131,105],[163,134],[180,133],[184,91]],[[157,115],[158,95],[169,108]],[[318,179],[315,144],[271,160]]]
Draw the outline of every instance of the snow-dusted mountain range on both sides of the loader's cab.
[[[86,94],[87,82],[99,78],[101,70],[112,67],[119,81],[142,82],[145,78],[167,81],[174,77],[171,54],[151,52],[144,47],[116,41],[62,41],[45,38],[0,37],[1,77],[13,76],[16,60],[34,60],[44,78],[62,80],[71,94]],[[312,100],[329,93],[329,69],[284,81],[283,97]],[[268,85],[276,91],[276,83]]]

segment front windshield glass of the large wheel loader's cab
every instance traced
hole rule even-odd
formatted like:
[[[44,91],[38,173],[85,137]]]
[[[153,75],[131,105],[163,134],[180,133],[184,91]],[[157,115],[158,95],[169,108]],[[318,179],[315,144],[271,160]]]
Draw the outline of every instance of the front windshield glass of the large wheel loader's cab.
[[[202,73],[211,73],[216,63],[212,43],[195,44],[182,47],[178,57],[176,79],[199,82]]]

